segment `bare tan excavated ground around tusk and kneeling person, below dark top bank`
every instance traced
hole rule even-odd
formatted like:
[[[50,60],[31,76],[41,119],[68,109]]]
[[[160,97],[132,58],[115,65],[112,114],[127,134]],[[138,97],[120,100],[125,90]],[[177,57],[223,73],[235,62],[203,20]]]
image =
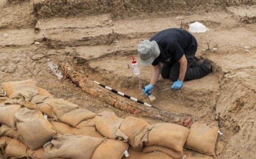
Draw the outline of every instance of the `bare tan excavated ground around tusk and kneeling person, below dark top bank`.
[[[106,13],[37,20],[31,3],[0,3],[0,83],[33,79],[55,97],[88,110],[112,109],[119,117],[131,116],[87,95],[70,79],[58,79],[49,62],[58,65],[68,61],[80,67],[89,79],[150,102],[141,93],[141,86],[149,82],[150,67],[140,67],[141,75],[134,76],[126,57],[134,55],[138,59],[137,44],[162,29],[188,29],[190,23],[199,21],[209,32],[193,33],[199,43],[197,57],[211,60],[214,71],[185,82],[180,91],[161,92],[171,81],[160,78],[153,91],[158,100],[152,104],[170,112],[192,114],[198,120],[218,121],[224,133],[218,141],[225,145],[220,159],[255,158],[255,6],[214,12],[141,13],[123,19],[113,19]],[[243,22],[244,12],[250,16],[249,22]],[[192,159],[211,158],[195,151],[186,153]]]

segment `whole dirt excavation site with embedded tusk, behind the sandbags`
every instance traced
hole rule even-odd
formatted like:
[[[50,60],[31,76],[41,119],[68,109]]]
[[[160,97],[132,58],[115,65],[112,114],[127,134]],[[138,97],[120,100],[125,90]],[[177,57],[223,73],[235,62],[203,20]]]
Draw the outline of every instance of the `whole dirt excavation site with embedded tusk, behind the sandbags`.
[[[54,98],[69,100],[94,113],[112,110],[120,118],[141,117],[151,125],[173,122],[186,126],[187,117],[193,122],[217,122],[223,134],[219,135],[216,144],[224,143],[220,159],[254,157],[255,0],[2,2],[0,87],[2,82],[32,79]],[[209,59],[213,72],[202,79],[185,82],[179,91],[161,92],[172,81],[160,78],[153,90],[157,100],[150,103],[141,91],[141,86],[149,83],[150,66],[140,67],[141,74],[134,76],[127,65],[131,60],[126,57],[134,55],[139,61],[139,42],[163,29],[188,29],[188,24],[194,21],[209,28],[208,32],[193,35],[199,44],[196,56]],[[35,42],[40,44],[35,45]],[[58,66],[69,63],[74,68],[70,78],[57,79],[48,67],[49,59]],[[81,77],[82,82],[88,79],[88,84],[79,85],[79,81],[74,82],[76,77]],[[93,80],[160,110],[124,101],[121,96],[91,85]],[[88,89],[87,86],[92,87]],[[99,90],[111,98],[100,96]],[[72,130],[77,133],[77,128]],[[186,148],[184,151],[187,158],[212,158]],[[216,151],[216,155],[218,153]]]

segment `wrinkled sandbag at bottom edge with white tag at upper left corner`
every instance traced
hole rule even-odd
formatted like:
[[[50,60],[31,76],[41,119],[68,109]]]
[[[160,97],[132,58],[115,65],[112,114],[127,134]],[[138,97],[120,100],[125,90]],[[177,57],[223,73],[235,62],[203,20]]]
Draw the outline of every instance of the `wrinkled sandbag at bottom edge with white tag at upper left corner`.
[[[44,153],[44,159],[90,159],[93,151],[103,142],[103,138],[89,136],[57,135],[51,141],[52,147]]]

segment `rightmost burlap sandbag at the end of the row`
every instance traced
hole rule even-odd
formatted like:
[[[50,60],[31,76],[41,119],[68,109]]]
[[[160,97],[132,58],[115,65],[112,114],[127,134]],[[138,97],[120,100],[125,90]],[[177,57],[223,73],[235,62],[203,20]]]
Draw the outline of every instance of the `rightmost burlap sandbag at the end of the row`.
[[[190,128],[185,146],[206,155],[215,155],[218,130],[216,122],[212,124],[203,121],[195,122]]]

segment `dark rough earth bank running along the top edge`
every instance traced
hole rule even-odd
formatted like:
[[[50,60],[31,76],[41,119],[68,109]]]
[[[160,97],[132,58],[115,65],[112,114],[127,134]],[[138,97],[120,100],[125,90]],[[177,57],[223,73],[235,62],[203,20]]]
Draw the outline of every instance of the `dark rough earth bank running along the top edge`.
[[[112,17],[131,17],[155,11],[190,11],[191,7],[208,8],[255,4],[255,0],[34,0],[34,10],[40,18],[68,17],[79,14],[111,13]],[[205,6],[207,4],[207,7]],[[64,6],[64,7],[63,7]]]

